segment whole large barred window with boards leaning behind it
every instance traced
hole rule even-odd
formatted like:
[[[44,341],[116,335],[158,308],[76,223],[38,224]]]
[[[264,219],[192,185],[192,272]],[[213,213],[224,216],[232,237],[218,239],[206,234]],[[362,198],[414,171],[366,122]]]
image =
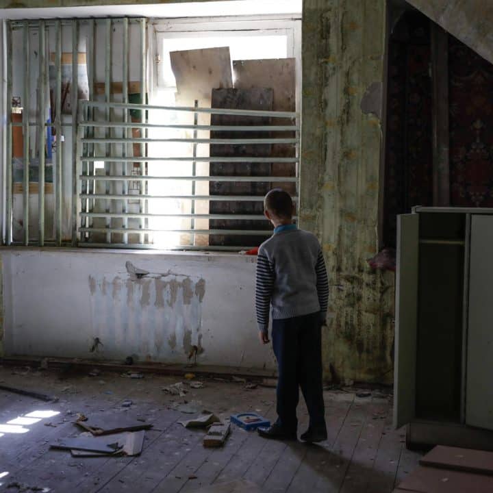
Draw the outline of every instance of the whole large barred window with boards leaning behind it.
[[[299,21],[12,21],[8,38],[8,244],[238,251],[270,236],[270,188],[297,201]]]

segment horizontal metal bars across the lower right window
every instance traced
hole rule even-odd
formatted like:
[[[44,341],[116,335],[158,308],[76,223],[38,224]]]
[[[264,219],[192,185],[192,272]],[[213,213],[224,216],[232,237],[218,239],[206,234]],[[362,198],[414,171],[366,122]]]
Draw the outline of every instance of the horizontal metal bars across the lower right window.
[[[196,184],[199,182],[250,182],[264,184],[291,184],[298,190],[299,182],[299,125],[297,119],[299,115],[295,112],[277,112],[277,111],[257,111],[257,110],[227,110],[219,108],[198,108],[197,105],[191,108],[184,107],[165,107],[158,105],[135,104],[135,103],[112,103],[98,101],[79,101],[79,123],[77,146],[79,156],[77,162],[77,239],[81,247],[116,247],[116,248],[142,248],[151,249],[159,248],[159,242],[153,240],[153,234],[179,233],[181,241],[176,244],[167,244],[167,249],[183,250],[236,250],[247,249],[251,246],[223,246],[211,244],[194,244],[194,238],[202,235],[205,237],[211,235],[223,236],[268,236],[270,234],[266,229],[214,229],[197,227],[199,219],[205,220],[247,220],[247,221],[265,221],[262,214],[205,214],[197,211],[198,201],[251,201],[258,202],[263,200],[263,194],[256,195],[216,195],[203,194],[196,192]],[[120,112],[120,121],[98,120],[89,118],[88,115],[94,114],[94,110],[99,110],[99,114],[105,112],[110,114],[110,110]],[[140,121],[129,122],[128,114],[131,112],[140,112]],[[176,123],[172,118],[166,118],[160,123],[150,123],[155,121],[149,115],[151,112],[160,114],[175,114],[180,112],[188,114],[192,124]],[[199,114],[218,114],[229,116],[255,116],[268,117],[273,121],[273,125],[199,125],[197,123]],[[292,122],[291,125],[276,125],[275,118],[286,118]],[[108,129],[114,131],[113,136],[108,136]],[[166,137],[129,137],[129,129],[140,129],[145,135],[146,131],[166,132]],[[184,133],[188,131],[188,135]],[[203,138],[198,137],[198,132],[205,131],[227,131],[238,132],[239,138]],[[175,133],[170,136],[169,133]],[[265,134],[262,138],[249,138],[248,134],[259,132]],[[292,132],[292,138],[277,138],[277,132]],[[156,132],[154,132],[156,133]],[[104,136],[101,136],[103,135]],[[262,134],[260,134],[262,135]],[[131,144],[131,145],[129,145]],[[138,147],[134,147],[137,144]],[[161,151],[166,150],[169,144],[190,144],[190,153],[188,155],[153,155],[152,150],[155,146]],[[234,145],[242,144],[288,144],[294,147],[293,157],[250,157],[250,156],[210,156],[207,152],[210,146],[214,145]],[[205,149],[205,156],[197,155],[197,148]],[[140,149],[140,155],[129,155],[131,149]],[[149,149],[149,153],[144,151]],[[163,155],[164,154],[164,155]],[[291,176],[238,176],[238,175],[197,175],[197,163],[240,163],[248,164],[252,168],[256,164],[265,163],[290,163],[293,166],[294,173]],[[97,168],[96,164],[99,165]],[[119,164],[119,166],[116,166]],[[190,164],[192,165],[190,167]],[[104,166],[104,168],[103,168]],[[134,167],[138,166],[138,167]],[[147,170],[153,166],[155,174],[148,174]],[[186,168],[186,170],[184,170]],[[112,173],[108,170],[111,169]],[[137,174],[133,174],[134,170]],[[158,173],[156,173],[156,170]],[[183,171],[182,171],[183,170]],[[173,193],[146,193],[150,183],[170,182],[175,184],[176,188]],[[190,184],[188,192],[184,189],[184,184]],[[114,184],[114,187],[111,185]],[[140,186],[135,186],[140,184]],[[180,188],[181,185],[181,188]],[[134,189],[138,194],[131,194]],[[115,190],[118,190],[115,192]],[[132,203],[138,200],[138,208],[132,207]],[[162,207],[151,207],[149,202],[161,200]],[[297,193],[295,200],[297,201]],[[166,202],[168,201],[168,202]],[[169,201],[180,201],[188,203],[185,211],[170,212],[166,204]],[[111,205],[110,205],[111,203]],[[161,219],[164,226],[151,227],[149,220]],[[166,225],[166,219],[176,218],[178,220],[188,220],[186,227],[173,227]],[[97,224],[95,223],[97,221]],[[104,222],[102,222],[104,221]],[[133,236],[133,238],[132,238]]]

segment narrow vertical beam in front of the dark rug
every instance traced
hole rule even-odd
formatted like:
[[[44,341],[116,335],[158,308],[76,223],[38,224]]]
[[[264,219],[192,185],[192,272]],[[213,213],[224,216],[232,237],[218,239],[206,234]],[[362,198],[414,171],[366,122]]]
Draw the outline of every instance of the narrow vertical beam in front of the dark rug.
[[[448,33],[430,21],[433,127],[433,205],[450,205]]]

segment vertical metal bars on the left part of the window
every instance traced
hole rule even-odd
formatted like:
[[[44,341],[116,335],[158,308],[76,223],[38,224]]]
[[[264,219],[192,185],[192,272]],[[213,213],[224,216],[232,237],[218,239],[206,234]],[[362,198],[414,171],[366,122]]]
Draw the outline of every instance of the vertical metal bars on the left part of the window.
[[[77,229],[69,211],[77,208],[81,88],[86,97],[103,93],[110,101],[120,84],[124,103],[130,85],[134,92],[147,91],[147,19],[41,19],[9,21],[6,27],[3,243],[73,245]],[[97,51],[103,38],[106,49]],[[11,101],[12,106],[19,101],[20,108],[11,111]]]

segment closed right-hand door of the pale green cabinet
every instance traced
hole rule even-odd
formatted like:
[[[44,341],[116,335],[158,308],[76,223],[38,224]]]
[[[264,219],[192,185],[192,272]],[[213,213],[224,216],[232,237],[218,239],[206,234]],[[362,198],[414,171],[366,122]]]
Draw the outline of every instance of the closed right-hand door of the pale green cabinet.
[[[471,220],[466,423],[493,429],[493,216]]]

